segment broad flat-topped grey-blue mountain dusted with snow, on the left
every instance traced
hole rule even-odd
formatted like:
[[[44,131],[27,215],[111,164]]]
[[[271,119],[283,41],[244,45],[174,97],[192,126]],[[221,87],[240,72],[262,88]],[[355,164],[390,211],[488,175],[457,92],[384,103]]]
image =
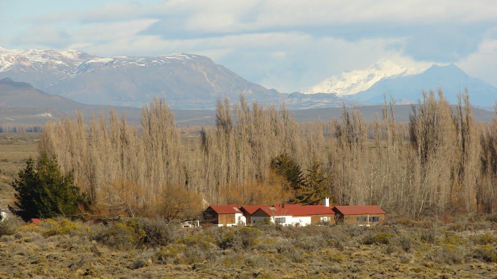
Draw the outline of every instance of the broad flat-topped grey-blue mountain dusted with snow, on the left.
[[[0,78],[4,77],[89,104],[141,106],[158,96],[175,108],[213,108],[224,96],[238,100],[243,93],[249,101],[284,96],[205,56],[182,53],[97,57],[74,50],[1,48]]]

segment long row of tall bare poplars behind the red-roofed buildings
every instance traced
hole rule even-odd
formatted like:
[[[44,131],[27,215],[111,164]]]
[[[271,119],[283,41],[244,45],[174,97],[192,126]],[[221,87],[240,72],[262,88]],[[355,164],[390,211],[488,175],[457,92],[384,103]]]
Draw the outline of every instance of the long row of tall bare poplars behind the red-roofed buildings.
[[[234,105],[219,100],[216,126],[191,137],[156,99],[140,127],[112,110],[88,125],[81,114],[47,123],[40,150],[74,172],[95,212],[161,215],[171,200],[202,207],[202,198],[286,202],[292,194],[271,170],[280,154],[302,168],[319,164],[336,204],[378,204],[410,216],[496,208],[497,120],[476,123],[467,93],[451,106],[441,90],[423,93],[409,123],[394,115],[392,103],[374,122],[344,107],[340,121],[297,124],[284,106],[250,106],[241,97]]]

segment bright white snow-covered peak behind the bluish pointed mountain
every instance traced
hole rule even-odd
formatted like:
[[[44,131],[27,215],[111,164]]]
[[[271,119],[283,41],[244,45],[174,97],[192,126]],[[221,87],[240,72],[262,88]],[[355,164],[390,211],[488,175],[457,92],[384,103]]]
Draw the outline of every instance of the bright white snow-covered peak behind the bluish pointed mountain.
[[[352,70],[331,76],[317,85],[304,89],[304,94],[332,93],[337,96],[356,94],[366,90],[385,77],[415,74],[423,69],[400,66],[390,60],[381,60],[366,70]]]

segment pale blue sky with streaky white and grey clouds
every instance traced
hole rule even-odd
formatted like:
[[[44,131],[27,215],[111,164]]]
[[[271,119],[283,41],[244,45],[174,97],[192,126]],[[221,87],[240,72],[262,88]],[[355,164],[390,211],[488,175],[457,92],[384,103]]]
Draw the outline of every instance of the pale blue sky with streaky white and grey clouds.
[[[496,0],[0,0],[0,45],[205,55],[291,93],[383,59],[497,86]]]

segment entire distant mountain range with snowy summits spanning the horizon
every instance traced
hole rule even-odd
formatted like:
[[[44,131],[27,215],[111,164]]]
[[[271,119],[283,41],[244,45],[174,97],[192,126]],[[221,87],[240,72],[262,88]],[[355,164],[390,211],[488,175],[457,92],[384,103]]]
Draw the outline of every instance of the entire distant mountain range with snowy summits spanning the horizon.
[[[381,60],[365,70],[331,76],[291,94],[250,82],[211,59],[193,54],[98,57],[77,50],[9,50],[0,47],[0,78],[27,82],[43,92],[92,105],[141,107],[154,96],[175,109],[213,109],[225,96],[290,109],[371,105],[383,95],[398,104],[417,102],[422,90],[442,88],[451,103],[468,88],[473,105],[489,107],[497,88],[455,65],[429,69]]]

